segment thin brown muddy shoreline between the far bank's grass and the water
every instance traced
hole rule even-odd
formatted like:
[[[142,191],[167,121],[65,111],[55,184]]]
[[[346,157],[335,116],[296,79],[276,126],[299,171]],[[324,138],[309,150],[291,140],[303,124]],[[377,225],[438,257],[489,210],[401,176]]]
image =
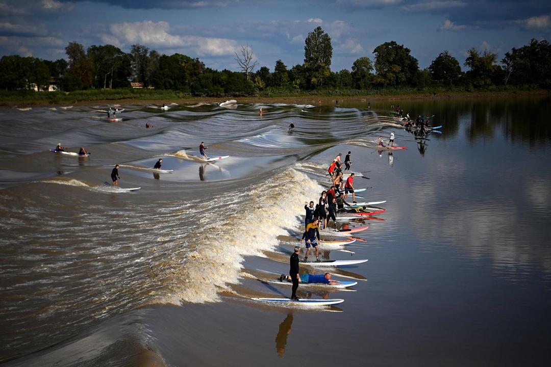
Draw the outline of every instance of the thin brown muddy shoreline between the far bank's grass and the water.
[[[328,105],[333,104],[335,100],[340,101],[401,101],[401,100],[449,100],[459,98],[488,98],[488,97],[527,97],[527,96],[549,96],[549,90],[510,90],[510,91],[449,91],[449,92],[419,92],[417,94],[365,94],[365,95],[305,95],[305,96],[280,96],[280,97],[188,97],[188,98],[120,98],[120,99],[100,99],[100,100],[74,100],[73,102],[59,101],[51,103],[49,100],[0,100],[0,107],[29,107],[29,106],[90,106],[90,105],[128,105],[136,102],[145,103],[219,103],[226,100],[235,99],[238,103],[277,103],[286,102],[298,105]],[[331,102],[331,103],[329,103]]]

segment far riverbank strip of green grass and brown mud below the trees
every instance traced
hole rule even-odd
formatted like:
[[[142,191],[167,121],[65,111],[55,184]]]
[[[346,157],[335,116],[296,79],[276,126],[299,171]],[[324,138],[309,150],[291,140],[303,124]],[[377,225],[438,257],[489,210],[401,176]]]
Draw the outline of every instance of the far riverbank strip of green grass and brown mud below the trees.
[[[408,100],[418,98],[456,98],[484,96],[519,96],[519,95],[549,95],[549,90],[539,89],[507,89],[495,87],[487,90],[467,90],[428,88],[419,89],[377,89],[377,90],[315,90],[315,91],[285,91],[265,90],[251,96],[212,96],[201,97],[184,94],[172,90],[155,89],[104,89],[84,90],[74,92],[35,92],[35,91],[0,91],[0,106],[32,106],[32,105],[87,105],[89,103],[191,103],[218,102],[227,99],[237,99],[239,102],[271,103],[285,101],[287,103],[326,104],[328,101],[366,98],[371,100]]]

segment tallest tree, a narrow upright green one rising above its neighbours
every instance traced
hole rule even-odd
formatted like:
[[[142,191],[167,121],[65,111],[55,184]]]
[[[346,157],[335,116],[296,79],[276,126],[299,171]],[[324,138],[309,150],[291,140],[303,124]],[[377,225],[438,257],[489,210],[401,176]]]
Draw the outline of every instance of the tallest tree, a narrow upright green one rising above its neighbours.
[[[311,86],[323,85],[331,72],[332,57],[331,37],[317,27],[304,40],[304,67]]]

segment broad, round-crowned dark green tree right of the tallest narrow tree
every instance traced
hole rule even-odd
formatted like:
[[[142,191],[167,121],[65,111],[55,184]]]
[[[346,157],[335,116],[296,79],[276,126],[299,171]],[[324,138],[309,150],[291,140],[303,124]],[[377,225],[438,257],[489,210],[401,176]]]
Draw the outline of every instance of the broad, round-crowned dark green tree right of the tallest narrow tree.
[[[375,48],[377,80],[383,85],[413,84],[419,70],[418,61],[409,54],[411,50],[396,41],[385,42]]]

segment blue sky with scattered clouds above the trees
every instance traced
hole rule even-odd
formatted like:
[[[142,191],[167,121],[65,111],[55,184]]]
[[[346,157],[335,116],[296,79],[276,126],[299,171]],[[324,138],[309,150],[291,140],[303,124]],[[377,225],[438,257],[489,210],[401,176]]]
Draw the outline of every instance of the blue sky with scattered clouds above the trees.
[[[278,59],[301,64],[306,36],[321,26],[334,72],[374,59],[374,48],[389,41],[426,68],[445,50],[463,64],[471,47],[501,60],[533,38],[549,40],[550,15],[543,0],[0,0],[0,57],[66,58],[71,41],[125,52],[138,43],[239,70],[234,52],[248,45],[258,67],[273,72]]]

